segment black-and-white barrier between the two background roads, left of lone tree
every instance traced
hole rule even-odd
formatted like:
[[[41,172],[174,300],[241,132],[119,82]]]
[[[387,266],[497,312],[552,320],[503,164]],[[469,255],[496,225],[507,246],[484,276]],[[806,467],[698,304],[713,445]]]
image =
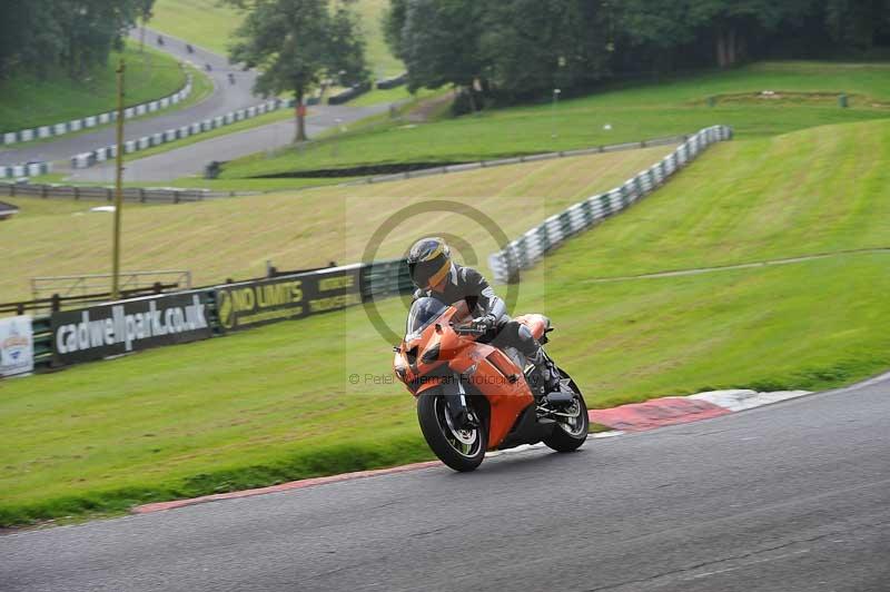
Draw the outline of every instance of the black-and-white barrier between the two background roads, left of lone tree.
[[[188,126],[168,129],[158,134],[152,134],[151,136],[144,136],[135,140],[127,140],[123,144],[123,152],[132,154],[140,150],[147,150],[149,148],[154,148],[155,146],[160,146],[161,144],[169,144],[171,141],[205,134],[207,131],[230,126],[237,121],[251,119],[278,109],[289,109],[293,108],[295,103],[296,101],[294,99],[270,99],[260,105],[255,105],[254,107],[249,107],[247,109],[238,109],[237,111],[231,111],[212,119],[205,119]],[[317,100],[309,101],[309,103],[317,103]],[[117,156],[116,146],[106,146],[103,148],[90,150],[89,152],[81,152],[71,157],[71,168],[89,168],[99,162],[110,160],[115,156]]]

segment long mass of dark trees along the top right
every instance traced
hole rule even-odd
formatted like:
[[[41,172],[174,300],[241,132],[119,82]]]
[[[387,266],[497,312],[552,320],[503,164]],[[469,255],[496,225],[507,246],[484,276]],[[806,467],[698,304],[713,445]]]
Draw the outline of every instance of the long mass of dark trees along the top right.
[[[413,89],[468,108],[612,77],[890,46],[890,0],[390,0],[386,40]]]

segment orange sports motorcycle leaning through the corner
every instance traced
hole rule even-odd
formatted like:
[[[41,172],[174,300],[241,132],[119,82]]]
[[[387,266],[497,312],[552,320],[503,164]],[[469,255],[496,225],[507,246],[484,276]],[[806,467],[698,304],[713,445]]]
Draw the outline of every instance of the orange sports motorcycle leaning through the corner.
[[[543,315],[516,320],[542,345],[553,330]],[[418,298],[408,312],[393,368],[417,399],[421,430],[436,456],[455,471],[473,471],[486,451],[538,442],[558,452],[581,446],[590,423],[572,377],[560,368],[560,389],[535,396],[534,366],[513,347],[481,343],[484,334],[469,323],[464,302]]]

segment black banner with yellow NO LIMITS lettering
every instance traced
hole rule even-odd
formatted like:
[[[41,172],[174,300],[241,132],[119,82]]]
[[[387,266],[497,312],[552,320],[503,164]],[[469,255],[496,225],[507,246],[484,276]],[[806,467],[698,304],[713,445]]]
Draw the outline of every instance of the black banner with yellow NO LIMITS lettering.
[[[301,318],[362,304],[359,266],[230,284],[216,289],[222,330]]]

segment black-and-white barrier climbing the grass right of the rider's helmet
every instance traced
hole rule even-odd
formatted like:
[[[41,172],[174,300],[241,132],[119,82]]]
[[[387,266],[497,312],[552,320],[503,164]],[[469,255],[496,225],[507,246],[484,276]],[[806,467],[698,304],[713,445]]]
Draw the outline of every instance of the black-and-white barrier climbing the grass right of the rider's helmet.
[[[732,139],[732,128],[714,126],[686,139],[676,150],[649,169],[611,191],[589,197],[562,214],[547,218],[521,238],[511,241],[488,257],[494,276],[500,282],[514,280],[521,269],[528,269],[566,238],[595,226],[654,191],[669,177],[694,160],[714,142]],[[636,146],[636,145],[631,145]],[[619,148],[615,148],[619,149]],[[527,159],[526,159],[527,160]]]

